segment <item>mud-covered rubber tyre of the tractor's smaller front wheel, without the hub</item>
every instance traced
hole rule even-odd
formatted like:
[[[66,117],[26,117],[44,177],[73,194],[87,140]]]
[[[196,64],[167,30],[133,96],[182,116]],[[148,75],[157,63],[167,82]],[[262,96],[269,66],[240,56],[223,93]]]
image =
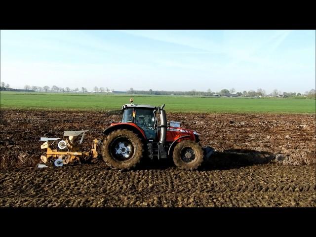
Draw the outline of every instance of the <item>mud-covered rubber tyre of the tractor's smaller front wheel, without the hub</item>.
[[[190,161],[184,161],[185,156],[183,152],[186,152],[187,150],[193,151],[194,157]],[[204,152],[202,147],[191,140],[184,140],[179,142],[174,150],[173,150],[173,161],[176,166],[178,166],[181,169],[185,170],[194,170],[197,169],[198,166],[201,165],[204,157]]]

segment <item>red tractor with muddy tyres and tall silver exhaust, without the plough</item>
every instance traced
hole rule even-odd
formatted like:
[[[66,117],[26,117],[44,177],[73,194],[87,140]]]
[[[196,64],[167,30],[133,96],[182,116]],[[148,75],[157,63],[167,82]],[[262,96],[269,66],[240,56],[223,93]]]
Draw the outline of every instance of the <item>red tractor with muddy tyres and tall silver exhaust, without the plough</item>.
[[[122,121],[104,130],[102,156],[111,168],[130,169],[142,157],[172,157],[179,168],[193,170],[213,153],[210,147],[202,149],[197,132],[181,128],[179,122],[167,123],[164,105],[135,105],[132,99],[130,102],[122,106]]]

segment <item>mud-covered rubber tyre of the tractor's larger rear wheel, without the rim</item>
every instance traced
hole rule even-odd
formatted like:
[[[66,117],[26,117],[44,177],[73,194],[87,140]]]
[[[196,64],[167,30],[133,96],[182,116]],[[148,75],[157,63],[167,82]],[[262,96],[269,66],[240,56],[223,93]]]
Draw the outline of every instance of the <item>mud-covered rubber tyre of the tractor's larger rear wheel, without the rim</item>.
[[[118,160],[113,153],[113,146],[117,139],[127,140],[133,147],[131,157],[127,160]],[[128,170],[134,167],[143,157],[143,142],[136,133],[126,130],[118,129],[111,132],[103,141],[102,157],[105,163],[113,169]]]

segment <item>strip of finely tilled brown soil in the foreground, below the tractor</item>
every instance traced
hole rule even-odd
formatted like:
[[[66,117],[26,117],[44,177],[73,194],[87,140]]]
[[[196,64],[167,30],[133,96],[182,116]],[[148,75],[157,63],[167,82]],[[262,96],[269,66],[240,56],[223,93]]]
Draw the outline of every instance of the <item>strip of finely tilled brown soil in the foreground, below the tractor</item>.
[[[294,168],[293,168],[294,167]],[[263,164],[183,171],[147,166],[119,172],[104,165],[0,171],[7,207],[316,206],[313,166]]]

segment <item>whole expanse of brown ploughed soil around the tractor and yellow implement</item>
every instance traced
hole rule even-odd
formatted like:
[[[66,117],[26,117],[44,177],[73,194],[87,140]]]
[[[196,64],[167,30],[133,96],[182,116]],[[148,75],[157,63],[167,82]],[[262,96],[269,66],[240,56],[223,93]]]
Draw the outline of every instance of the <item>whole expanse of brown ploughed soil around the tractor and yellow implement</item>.
[[[129,171],[102,158],[37,168],[40,137],[89,130],[82,144],[119,115],[0,111],[0,206],[316,206],[316,116],[167,114],[196,130],[215,154],[195,171],[172,160],[143,160]]]

